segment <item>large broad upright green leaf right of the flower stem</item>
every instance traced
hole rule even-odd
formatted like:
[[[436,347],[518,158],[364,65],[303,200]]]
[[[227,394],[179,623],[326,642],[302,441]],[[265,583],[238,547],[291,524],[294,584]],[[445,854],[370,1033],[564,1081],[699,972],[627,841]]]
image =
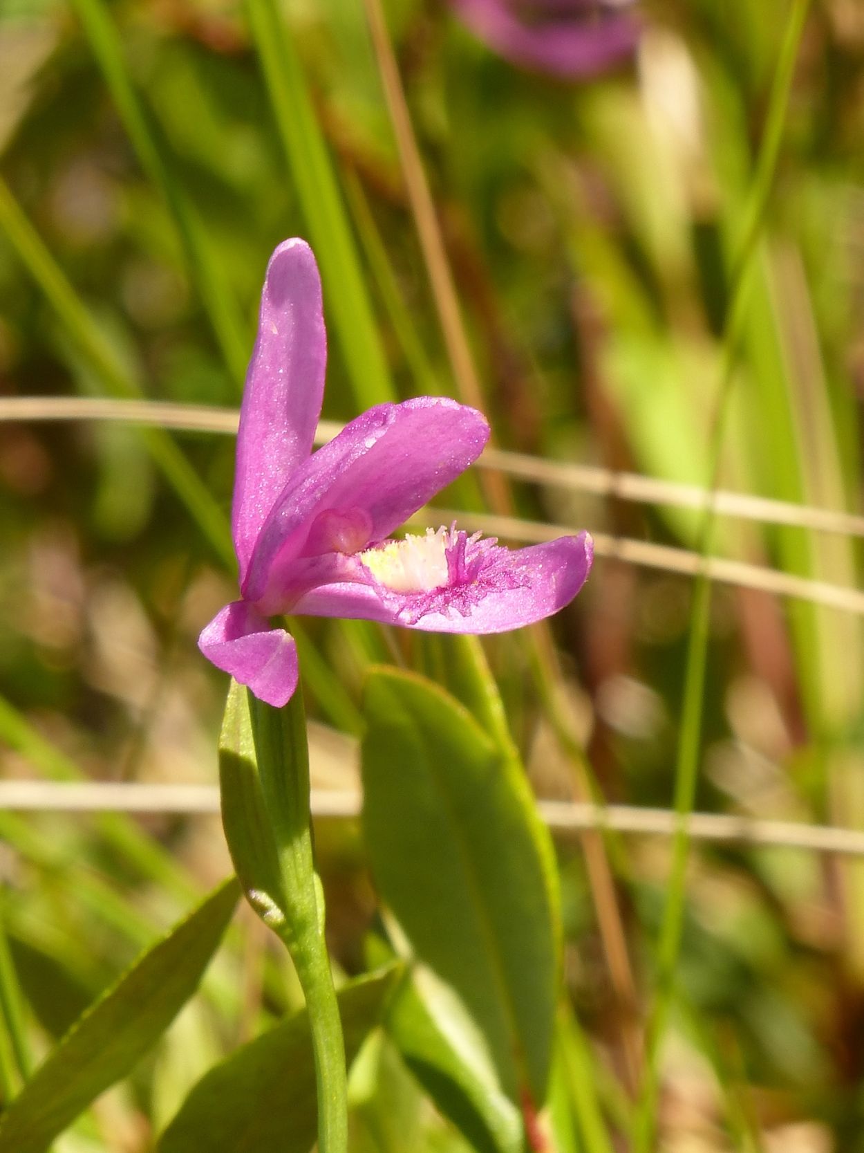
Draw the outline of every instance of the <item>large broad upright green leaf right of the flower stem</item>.
[[[376,670],[363,741],[364,828],[381,894],[417,955],[483,1031],[505,1092],[543,1101],[558,980],[558,904],[518,763],[453,698]]]

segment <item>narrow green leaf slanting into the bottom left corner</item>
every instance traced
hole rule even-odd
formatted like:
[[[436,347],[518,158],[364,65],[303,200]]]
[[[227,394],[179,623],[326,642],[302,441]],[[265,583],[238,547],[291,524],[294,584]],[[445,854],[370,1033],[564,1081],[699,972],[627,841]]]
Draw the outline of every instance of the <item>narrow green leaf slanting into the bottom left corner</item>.
[[[237,896],[234,879],[220,886],[78,1019],[0,1120],[0,1153],[43,1153],[134,1068],[195,992]]]

